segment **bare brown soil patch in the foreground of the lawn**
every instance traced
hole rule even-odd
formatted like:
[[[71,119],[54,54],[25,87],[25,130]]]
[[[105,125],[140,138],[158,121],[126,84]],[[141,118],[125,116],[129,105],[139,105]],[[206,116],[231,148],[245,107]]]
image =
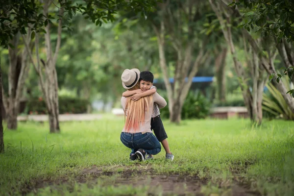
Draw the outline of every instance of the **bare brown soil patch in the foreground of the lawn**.
[[[178,196],[204,196],[201,193],[201,187],[207,184],[206,180],[199,179],[197,176],[177,175],[177,174],[156,174],[152,170],[130,170],[124,167],[121,172],[118,170],[108,170],[107,168],[84,169],[77,175],[63,176],[58,179],[35,179],[33,182],[26,183],[22,188],[22,194],[33,192],[38,193],[38,189],[52,187],[57,185],[70,185],[78,183],[87,183],[91,188],[99,184],[99,186],[122,186],[132,185],[133,187],[148,186],[148,195],[154,196],[158,192],[163,195]],[[70,186],[69,186],[70,187]],[[221,187],[220,187],[221,188]],[[71,191],[71,188],[69,188]],[[238,185],[237,182],[226,187],[225,195],[231,196],[257,196],[259,194],[248,190],[245,186]],[[218,196],[212,194],[211,196]]]

